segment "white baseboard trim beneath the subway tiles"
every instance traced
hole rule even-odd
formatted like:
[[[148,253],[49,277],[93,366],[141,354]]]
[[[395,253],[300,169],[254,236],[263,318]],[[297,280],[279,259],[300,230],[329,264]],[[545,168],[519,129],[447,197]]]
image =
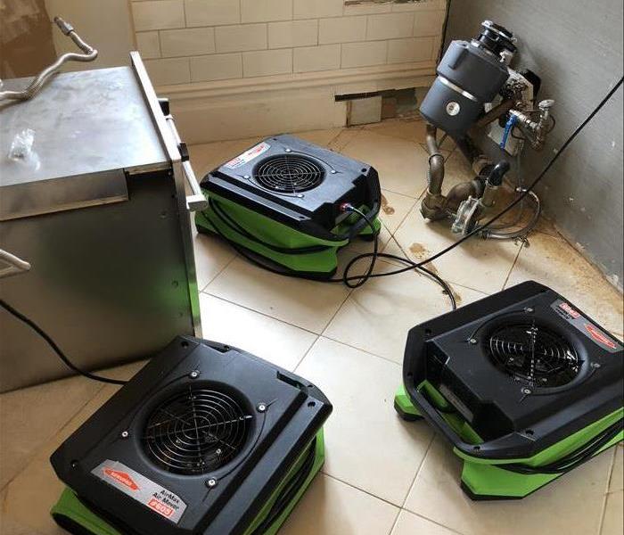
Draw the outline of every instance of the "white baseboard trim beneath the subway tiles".
[[[335,95],[430,86],[435,62],[160,86],[187,144],[343,127]]]

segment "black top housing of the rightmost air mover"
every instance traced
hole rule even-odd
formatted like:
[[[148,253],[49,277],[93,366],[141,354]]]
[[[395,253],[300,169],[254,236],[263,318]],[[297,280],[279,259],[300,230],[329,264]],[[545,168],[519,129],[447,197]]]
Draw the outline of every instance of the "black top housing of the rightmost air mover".
[[[530,350],[537,359],[528,359]],[[415,326],[403,378],[422,416],[456,449],[528,458],[622,407],[622,355],[594,320],[530,281]],[[449,428],[423,382],[483,443],[468,444]]]

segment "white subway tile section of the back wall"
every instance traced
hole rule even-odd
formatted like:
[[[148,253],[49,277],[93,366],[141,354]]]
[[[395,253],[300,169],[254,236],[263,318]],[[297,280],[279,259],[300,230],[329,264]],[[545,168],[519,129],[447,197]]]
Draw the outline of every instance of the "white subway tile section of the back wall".
[[[131,0],[154,84],[435,59],[446,0]]]

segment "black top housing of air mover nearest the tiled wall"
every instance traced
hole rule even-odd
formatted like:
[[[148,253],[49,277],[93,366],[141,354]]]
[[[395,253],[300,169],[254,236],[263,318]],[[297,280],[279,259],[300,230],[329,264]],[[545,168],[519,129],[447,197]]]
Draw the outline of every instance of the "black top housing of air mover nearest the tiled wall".
[[[201,188],[209,201],[215,193],[330,241],[351,239],[367,226],[361,218],[349,226],[348,235],[334,235],[332,229],[349,216],[341,205],[366,207],[366,216],[373,220],[382,199],[373,167],[288,135],[269,137],[224,163],[201,180]]]

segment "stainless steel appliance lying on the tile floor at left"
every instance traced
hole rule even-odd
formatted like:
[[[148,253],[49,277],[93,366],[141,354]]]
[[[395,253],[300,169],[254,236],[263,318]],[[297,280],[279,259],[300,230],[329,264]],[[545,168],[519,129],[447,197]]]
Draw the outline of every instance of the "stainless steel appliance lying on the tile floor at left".
[[[0,297],[82,368],[201,336],[189,212],[205,201],[185,149],[138,53],[0,103]],[[0,391],[66,374],[0,309]]]

